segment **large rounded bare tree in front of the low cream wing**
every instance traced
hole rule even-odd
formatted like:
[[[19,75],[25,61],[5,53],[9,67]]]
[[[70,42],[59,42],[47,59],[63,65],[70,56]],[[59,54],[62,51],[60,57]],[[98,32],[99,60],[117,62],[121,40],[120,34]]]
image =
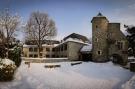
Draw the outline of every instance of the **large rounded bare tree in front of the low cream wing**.
[[[26,25],[26,33],[27,39],[34,40],[38,46],[38,57],[40,57],[43,40],[56,35],[55,22],[46,13],[33,12]]]

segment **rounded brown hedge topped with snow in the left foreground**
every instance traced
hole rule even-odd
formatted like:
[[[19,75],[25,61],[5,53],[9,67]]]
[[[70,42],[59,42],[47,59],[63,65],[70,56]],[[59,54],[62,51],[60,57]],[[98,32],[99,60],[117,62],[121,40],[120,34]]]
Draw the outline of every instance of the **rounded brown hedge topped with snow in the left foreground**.
[[[10,59],[0,59],[0,81],[13,79],[16,65]]]

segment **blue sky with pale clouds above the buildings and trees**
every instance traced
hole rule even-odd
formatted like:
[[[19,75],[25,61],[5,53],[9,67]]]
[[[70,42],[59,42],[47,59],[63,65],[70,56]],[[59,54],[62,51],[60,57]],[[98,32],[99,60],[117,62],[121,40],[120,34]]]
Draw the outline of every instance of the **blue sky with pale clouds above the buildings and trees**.
[[[61,40],[71,33],[92,37],[91,20],[99,12],[110,22],[135,25],[135,0],[0,0],[0,10],[9,8],[18,13],[22,24],[26,24],[33,11],[48,13],[55,21],[56,39]],[[18,33],[23,40],[24,34]]]

